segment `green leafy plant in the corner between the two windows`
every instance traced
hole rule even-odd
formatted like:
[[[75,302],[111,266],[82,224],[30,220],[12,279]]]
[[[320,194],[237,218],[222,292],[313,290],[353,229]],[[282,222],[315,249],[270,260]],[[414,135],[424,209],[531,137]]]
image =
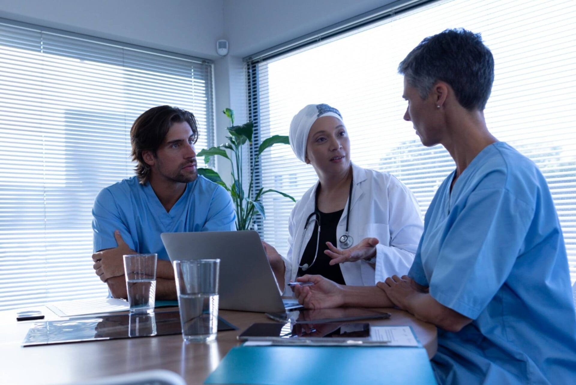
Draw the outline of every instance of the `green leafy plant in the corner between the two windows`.
[[[284,192],[273,190],[268,188],[260,188],[256,191],[256,194],[252,194],[252,185],[254,182],[254,168],[257,158],[262,155],[264,150],[275,144],[289,144],[288,137],[286,135],[273,135],[270,138],[262,141],[260,146],[258,146],[258,151],[252,152],[255,155],[252,157],[250,169],[249,169],[249,186],[248,194],[245,194],[244,186],[242,186],[242,181],[244,181],[244,169],[242,169],[242,155],[244,149],[248,151],[255,150],[253,148],[252,134],[254,131],[254,124],[252,122],[244,123],[241,126],[234,126],[234,111],[230,108],[222,111],[228,119],[230,119],[230,127],[227,128],[230,136],[226,137],[228,143],[221,144],[217,147],[204,149],[198,153],[197,156],[203,156],[206,164],[210,162],[210,157],[221,156],[230,161],[232,166],[232,186],[227,186],[223,182],[222,178],[216,171],[210,168],[199,168],[198,174],[204,176],[205,178],[211,180],[212,182],[218,183],[220,186],[226,188],[230,195],[232,195],[232,201],[234,202],[234,207],[236,208],[236,229],[237,230],[248,230],[252,228],[252,218],[256,213],[260,213],[262,217],[265,217],[264,205],[262,204],[262,197],[269,192],[274,192],[276,194],[283,195],[286,198],[291,199],[296,202],[293,197]],[[228,152],[230,151],[230,156]],[[253,197],[252,197],[253,195]]]

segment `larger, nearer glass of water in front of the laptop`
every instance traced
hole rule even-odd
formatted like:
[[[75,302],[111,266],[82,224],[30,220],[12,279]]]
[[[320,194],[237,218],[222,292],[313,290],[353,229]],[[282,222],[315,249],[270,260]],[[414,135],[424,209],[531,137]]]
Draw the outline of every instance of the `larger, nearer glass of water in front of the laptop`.
[[[219,259],[174,261],[182,337],[213,341],[218,331]]]

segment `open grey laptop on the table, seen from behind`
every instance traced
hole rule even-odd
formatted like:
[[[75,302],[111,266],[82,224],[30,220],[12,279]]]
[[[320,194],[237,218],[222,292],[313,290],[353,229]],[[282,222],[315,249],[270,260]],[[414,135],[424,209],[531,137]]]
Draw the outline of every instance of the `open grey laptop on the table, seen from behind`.
[[[171,262],[220,259],[219,308],[285,312],[300,308],[282,301],[260,236],[255,231],[162,233]]]

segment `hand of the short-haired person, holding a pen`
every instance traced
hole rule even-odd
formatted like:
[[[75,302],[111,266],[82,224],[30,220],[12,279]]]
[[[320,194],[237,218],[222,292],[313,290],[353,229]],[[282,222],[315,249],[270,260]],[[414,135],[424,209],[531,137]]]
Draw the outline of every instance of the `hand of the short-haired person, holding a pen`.
[[[321,275],[304,275],[296,278],[297,282],[314,282],[312,286],[294,286],[294,296],[298,303],[307,309],[334,308],[344,304],[344,294],[341,285],[330,281]]]

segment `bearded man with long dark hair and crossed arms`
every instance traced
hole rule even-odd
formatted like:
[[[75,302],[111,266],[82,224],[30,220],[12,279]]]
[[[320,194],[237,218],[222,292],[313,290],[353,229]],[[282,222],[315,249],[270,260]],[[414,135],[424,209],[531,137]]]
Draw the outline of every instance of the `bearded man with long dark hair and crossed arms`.
[[[190,112],[151,108],[135,120],[130,139],[137,175],[104,188],[94,201],[94,270],[113,297],[126,298],[122,255],[156,253],[156,297],[173,300],[174,271],[160,234],[232,231],[232,198],[198,176],[198,125]]]

